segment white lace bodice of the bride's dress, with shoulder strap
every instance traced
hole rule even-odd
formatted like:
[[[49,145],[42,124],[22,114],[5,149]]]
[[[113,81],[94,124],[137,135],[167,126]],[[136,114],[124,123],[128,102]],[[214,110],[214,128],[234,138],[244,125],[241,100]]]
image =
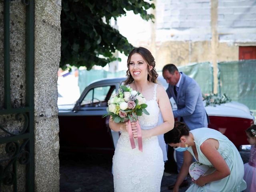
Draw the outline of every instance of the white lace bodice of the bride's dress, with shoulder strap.
[[[152,99],[146,101],[146,104],[148,105],[146,110],[148,111],[149,115],[142,113],[142,116],[138,117],[138,121],[142,129],[151,129],[158,123],[160,108],[156,101],[156,86],[157,84],[154,84]]]

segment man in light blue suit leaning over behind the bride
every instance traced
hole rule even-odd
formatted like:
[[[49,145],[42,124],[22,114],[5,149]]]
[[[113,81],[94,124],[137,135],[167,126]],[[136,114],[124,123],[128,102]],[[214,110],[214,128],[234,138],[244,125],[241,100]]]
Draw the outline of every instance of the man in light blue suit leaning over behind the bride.
[[[173,97],[177,104],[178,109],[173,111],[174,118],[185,122],[190,130],[208,127],[208,117],[198,83],[186,74],[179,72],[174,64],[164,66],[162,73],[169,84],[166,90],[168,97]],[[176,160],[179,172],[183,162],[183,152],[176,152]],[[169,186],[169,189],[172,189],[172,186]]]

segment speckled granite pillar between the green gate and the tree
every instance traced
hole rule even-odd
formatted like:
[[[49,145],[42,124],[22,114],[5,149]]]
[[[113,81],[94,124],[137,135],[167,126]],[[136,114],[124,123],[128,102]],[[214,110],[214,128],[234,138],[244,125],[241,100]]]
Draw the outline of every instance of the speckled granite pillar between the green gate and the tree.
[[[57,72],[61,0],[35,0],[35,191],[59,191]]]

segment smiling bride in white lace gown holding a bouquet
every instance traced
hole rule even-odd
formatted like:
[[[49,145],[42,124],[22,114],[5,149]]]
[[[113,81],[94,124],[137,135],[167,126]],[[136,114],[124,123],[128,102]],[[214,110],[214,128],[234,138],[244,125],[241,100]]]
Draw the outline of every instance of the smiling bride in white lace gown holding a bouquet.
[[[147,100],[146,110],[149,115],[138,117],[141,126],[143,152],[132,149],[128,123],[115,123],[112,117],[109,126],[114,131],[121,131],[113,156],[113,175],[115,192],[160,192],[164,173],[162,150],[157,136],[174,127],[172,108],[164,87],[157,84],[155,61],[146,48],[134,48],[127,60],[126,85],[140,92]],[[163,123],[158,125],[159,113],[162,113]],[[134,138],[138,138],[136,122],[132,122]]]

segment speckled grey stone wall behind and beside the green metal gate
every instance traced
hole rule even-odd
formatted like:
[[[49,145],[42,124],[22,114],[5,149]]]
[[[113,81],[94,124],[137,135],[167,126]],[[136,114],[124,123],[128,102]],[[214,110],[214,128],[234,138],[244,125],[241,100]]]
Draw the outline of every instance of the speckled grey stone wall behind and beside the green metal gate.
[[[35,191],[59,191],[59,139],[57,108],[57,72],[60,62],[61,0],[35,0],[34,32],[34,134]],[[0,109],[4,108],[4,0],[0,0]],[[22,1],[10,1],[10,85],[12,108],[24,107],[25,81],[25,20],[26,6]],[[0,116],[0,125],[18,133],[22,123],[14,115]],[[0,137],[7,136],[0,130]],[[19,141],[20,142],[20,141]],[[21,144],[21,143],[20,143]],[[8,157],[5,145],[0,145],[0,159]],[[25,191],[25,166],[17,163],[18,191]],[[12,186],[1,190],[13,191]]]

